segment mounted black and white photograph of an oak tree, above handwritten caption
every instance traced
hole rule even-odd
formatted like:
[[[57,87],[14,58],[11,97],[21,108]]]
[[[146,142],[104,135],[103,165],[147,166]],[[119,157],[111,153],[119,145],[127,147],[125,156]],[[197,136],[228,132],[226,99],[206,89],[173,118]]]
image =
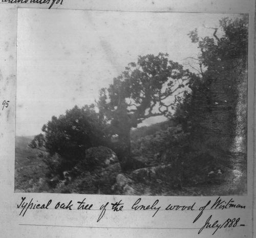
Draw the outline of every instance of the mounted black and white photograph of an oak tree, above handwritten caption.
[[[248,14],[17,18],[15,192],[247,194]]]

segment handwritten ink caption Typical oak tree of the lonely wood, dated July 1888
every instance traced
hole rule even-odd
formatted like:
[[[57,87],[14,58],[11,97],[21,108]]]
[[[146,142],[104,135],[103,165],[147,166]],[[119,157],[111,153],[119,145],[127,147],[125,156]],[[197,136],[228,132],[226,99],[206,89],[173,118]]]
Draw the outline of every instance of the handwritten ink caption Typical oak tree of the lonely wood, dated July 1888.
[[[46,203],[39,203],[38,201],[34,201],[34,199],[27,199],[26,197],[22,197],[19,204],[17,204],[17,208],[21,209],[19,212],[19,216],[24,217],[28,210],[33,209],[65,209],[65,210],[91,210],[91,209],[99,209],[99,214],[97,218],[97,222],[100,222],[100,220],[104,217],[106,211],[113,211],[113,212],[120,212],[123,211],[125,207],[125,204],[122,202],[122,200],[111,203],[106,202],[102,204],[99,207],[95,207],[93,203],[88,203],[86,198],[84,198],[81,201],[73,202],[73,200],[70,200],[68,203],[64,202],[53,202],[52,199],[48,200]],[[152,210],[153,214],[152,217],[156,217],[156,214],[159,212],[159,210],[164,211],[172,211],[172,210],[180,210],[180,211],[195,211],[196,217],[193,221],[191,221],[193,224],[198,223],[201,216],[203,215],[204,211],[207,210],[224,210],[224,209],[230,209],[230,208],[236,208],[236,209],[245,209],[244,205],[236,204],[235,201],[231,198],[230,200],[222,200],[220,197],[215,200],[211,201],[209,200],[206,204],[203,206],[198,206],[196,202],[190,205],[179,205],[179,204],[168,204],[167,206],[161,207],[159,205],[159,200],[155,200],[152,204],[144,204],[143,200],[141,198],[137,199],[131,207],[126,207],[126,209],[130,209],[132,211],[141,211],[141,210]],[[202,220],[202,219],[201,219]],[[216,234],[216,232],[222,228],[233,228],[237,226],[245,226],[244,224],[241,224],[241,218],[228,218],[223,221],[217,220],[214,218],[214,215],[210,214],[209,217],[203,221],[202,227],[199,229],[198,234],[200,234],[204,229],[213,228],[214,232],[212,232],[212,235]],[[202,221],[201,221],[202,222]]]

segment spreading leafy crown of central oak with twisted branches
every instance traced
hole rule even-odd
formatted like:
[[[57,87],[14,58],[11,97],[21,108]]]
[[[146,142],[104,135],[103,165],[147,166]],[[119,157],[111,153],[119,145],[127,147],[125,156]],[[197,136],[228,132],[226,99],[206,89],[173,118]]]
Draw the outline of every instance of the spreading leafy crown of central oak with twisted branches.
[[[129,114],[131,127],[143,120],[165,115],[181,101],[184,86],[196,77],[168,54],[139,56],[125,67],[108,89],[100,90],[98,107],[107,120],[115,120],[121,107]],[[172,98],[171,98],[172,97]]]

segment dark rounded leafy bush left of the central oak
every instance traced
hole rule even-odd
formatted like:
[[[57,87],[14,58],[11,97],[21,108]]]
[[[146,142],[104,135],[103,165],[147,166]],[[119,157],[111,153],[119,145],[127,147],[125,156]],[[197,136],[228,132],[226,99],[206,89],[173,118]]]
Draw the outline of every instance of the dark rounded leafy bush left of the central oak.
[[[104,128],[105,122],[95,112],[94,105],[86,105],[81,109],[75,106],[67,110],[65,115],[58,118],[53,116],[51,121],[42,126],[44,134],[35,136],[30,146],[48,153],[48,158],[57,154],[61,158],[58,170],[62,172],[84,159],[86,149],[103,143]]]

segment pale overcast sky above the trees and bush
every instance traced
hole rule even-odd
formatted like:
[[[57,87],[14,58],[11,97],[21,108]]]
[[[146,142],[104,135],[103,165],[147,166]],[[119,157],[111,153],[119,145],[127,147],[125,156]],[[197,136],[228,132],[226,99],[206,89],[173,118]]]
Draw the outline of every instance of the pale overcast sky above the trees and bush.
[[[168,53],[186,64],[199,52],[189,31],[210,36],[203,25],[218,27],[224,16],[19,8],[16,135],[39,134],[53,115],[93,103],[138,55]]]

